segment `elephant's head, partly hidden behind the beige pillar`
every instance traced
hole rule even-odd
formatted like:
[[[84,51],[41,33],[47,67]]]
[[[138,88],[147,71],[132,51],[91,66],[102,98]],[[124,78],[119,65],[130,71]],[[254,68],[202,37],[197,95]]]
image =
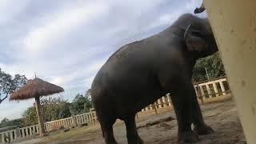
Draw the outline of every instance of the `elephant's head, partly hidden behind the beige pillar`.
[[[210,22],[207,18],[198,18],[192,14],[185,14],[178,19],[179,27],[185,30],[183,34],[186,48],[196,58],[204,58],[218,51]]]

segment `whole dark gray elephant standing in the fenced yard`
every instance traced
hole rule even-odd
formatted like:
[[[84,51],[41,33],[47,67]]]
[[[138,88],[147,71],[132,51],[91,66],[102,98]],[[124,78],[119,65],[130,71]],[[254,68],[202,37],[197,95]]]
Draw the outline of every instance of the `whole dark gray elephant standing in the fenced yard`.
[[[179,142],[196,142],[198,134],[213,133],[202,119],[191,78],[196,60],[217,50],[208,20],[192,14],[183,14],[159,34],[122,46],[98,71],[91,87],[105,142],[117,143],[112,126],[119,118],[126,123],[128,143],[143,143],[135,114],[167,93]]]

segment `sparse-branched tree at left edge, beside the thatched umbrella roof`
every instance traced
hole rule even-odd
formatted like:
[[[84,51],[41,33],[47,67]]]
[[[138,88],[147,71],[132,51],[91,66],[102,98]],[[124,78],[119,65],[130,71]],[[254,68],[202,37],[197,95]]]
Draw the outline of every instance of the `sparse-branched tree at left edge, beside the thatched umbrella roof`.
[[[15,74],[14,78],[0,69],[0,104],[15,90],[28,82],[25,75]]]

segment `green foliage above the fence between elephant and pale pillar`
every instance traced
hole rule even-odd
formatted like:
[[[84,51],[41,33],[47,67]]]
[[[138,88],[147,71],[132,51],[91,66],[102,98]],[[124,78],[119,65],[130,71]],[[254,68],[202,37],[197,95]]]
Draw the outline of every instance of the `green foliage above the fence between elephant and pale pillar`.
[[[219,54],[213,54],[206,58],[199,59],[194,66],[193,81],[200,82],[207,80],[206,70],[209,78],[225,76],[224,66]]]

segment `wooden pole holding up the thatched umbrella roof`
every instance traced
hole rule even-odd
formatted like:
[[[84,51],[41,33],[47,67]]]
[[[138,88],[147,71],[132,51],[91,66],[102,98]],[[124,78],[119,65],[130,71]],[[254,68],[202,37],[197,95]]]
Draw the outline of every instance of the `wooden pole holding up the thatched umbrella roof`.
[[[41,114],[41,106],[40,106],[40,98],[39,97],[35,97],[35,109],[37,110],[37,114],[38,114],[39,134],[40,134],[40,136],[45,136],[46,130],[45,130],[42,114]]]

